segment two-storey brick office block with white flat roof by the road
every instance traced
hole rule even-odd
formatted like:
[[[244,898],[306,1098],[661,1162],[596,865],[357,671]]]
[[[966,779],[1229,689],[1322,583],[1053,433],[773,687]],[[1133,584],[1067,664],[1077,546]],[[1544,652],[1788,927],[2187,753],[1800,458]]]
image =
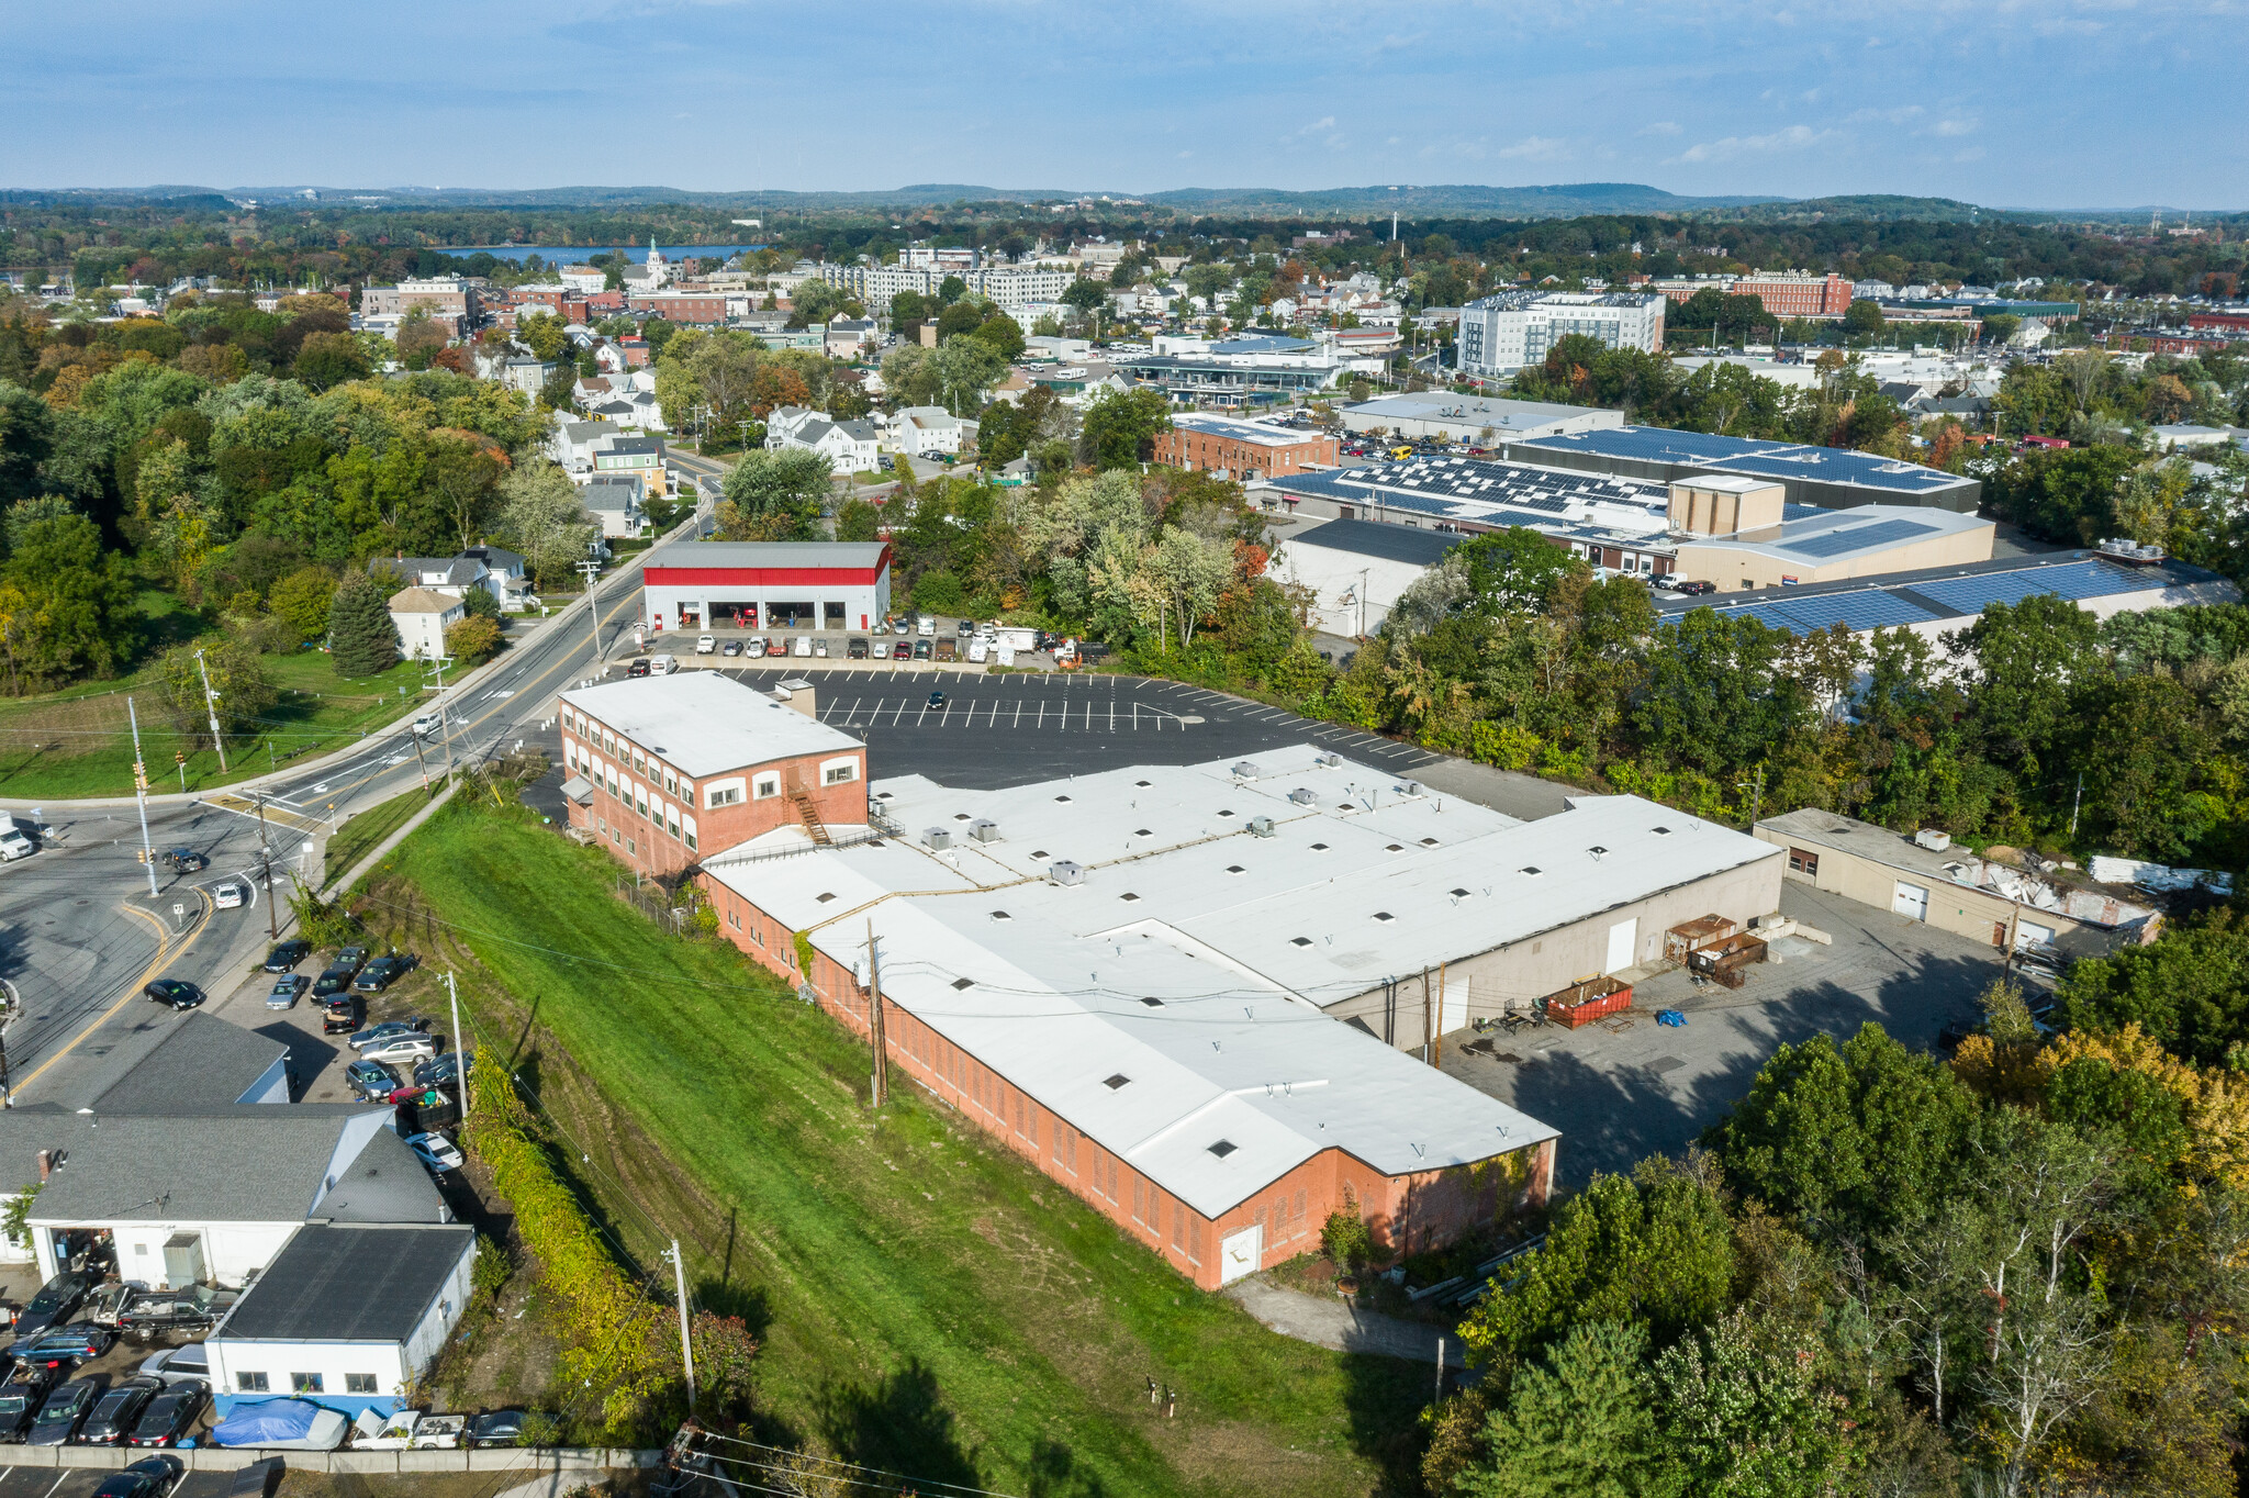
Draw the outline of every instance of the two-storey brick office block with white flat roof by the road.
[[[715,670],[562,693],[562,762],[569,825],[652,877],[866,828],[866,745]]]

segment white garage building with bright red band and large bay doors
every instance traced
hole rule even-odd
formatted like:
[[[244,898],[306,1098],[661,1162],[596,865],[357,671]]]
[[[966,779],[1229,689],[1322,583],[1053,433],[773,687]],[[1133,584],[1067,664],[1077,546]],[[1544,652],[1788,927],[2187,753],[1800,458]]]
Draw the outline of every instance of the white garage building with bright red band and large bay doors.
[[[886,542],[681,542],[643,571],[652,630],[870,630],[891,612]]]

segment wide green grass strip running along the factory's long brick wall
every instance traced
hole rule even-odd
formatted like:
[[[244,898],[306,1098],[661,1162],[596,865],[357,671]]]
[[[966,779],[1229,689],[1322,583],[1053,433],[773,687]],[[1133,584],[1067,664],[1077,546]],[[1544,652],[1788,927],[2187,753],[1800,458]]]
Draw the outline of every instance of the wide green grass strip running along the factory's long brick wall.
[[[875,1118],[857,1041],[614,884],[479,792],[360,909],[461,965],[639,1269],[677,1235],[697,1300],[751,1320],[769,1440],[1057,1498],[1410,1491],[1426,1370],[1266,1332],[904,1080]]]

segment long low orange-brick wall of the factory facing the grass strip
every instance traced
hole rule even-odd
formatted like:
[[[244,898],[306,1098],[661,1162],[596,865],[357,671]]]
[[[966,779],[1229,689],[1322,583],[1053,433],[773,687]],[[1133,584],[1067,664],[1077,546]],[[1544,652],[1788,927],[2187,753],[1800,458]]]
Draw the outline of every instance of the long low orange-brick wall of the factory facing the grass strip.
[[[792,985],[807,983],[807,974],[798,967],[794,931],[708,875],[702,886],[720,915],[720,931],[735,947]],[[870,994],[857,974],[814,949],[810,983],[828,1014],[859,1037],[870,1035]],[[895,1071],[1037,1165],[1203,1289],[1219,1289],[1226,1278],[1221,1244],[1253,1226],[1264,1235],[1259,1266],[1280,1264],[1298,1253],[1318,1251],[1327,1215],[1349,1201],[1367,1219],[1374,1242],[1421,1253],[1453,1242],[1502,1210],[1543,1206],[1554,1185],[1552,1143],[1478,1167],[1410,1176],[1385,1176],[1343,1149],[1322,1149],[1259,1188],[1253,1199],[1212,1219],[1169,1197],[1120,1156],[888,999],[882,1014]]]

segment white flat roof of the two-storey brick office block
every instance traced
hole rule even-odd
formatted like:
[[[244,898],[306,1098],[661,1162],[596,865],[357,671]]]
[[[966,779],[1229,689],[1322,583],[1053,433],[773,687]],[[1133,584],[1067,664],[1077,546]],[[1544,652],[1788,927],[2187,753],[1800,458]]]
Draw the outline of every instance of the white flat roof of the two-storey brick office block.
[[[866,747],[715,670],[580,686],[562,693],[562,702],[697,780],[744,765]]]

